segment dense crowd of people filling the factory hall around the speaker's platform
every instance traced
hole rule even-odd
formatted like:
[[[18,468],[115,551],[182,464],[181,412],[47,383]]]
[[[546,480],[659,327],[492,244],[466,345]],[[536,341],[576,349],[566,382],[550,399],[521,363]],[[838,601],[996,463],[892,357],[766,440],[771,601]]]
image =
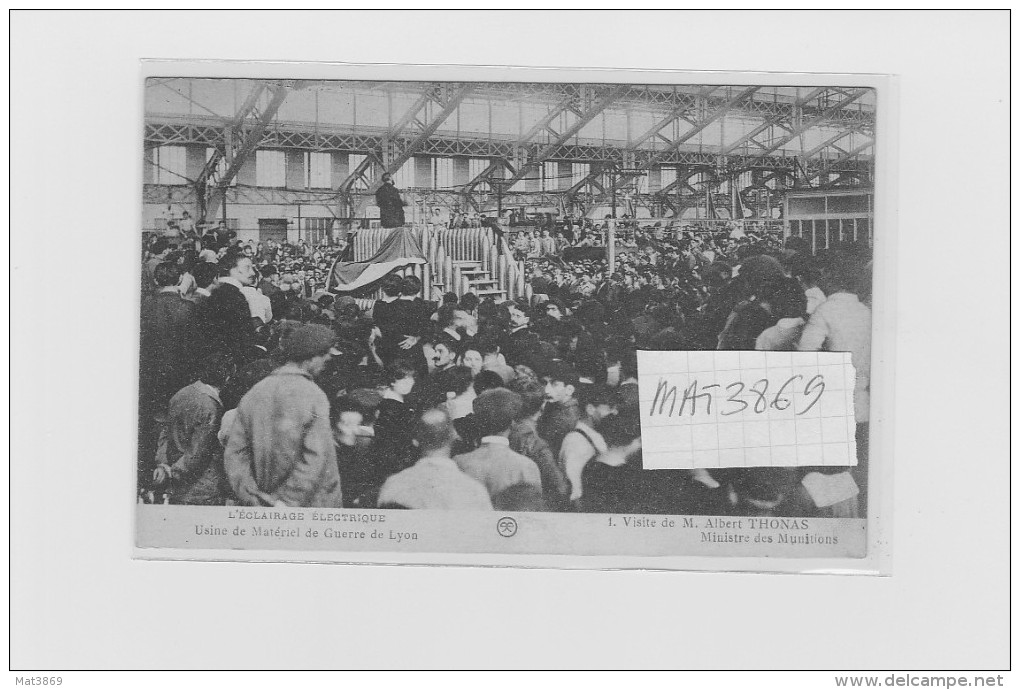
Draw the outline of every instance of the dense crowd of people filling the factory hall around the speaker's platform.
[[[605,257],[571,262],[544,251],[545,237],[538,255],[528,245],[530,300],[431,301],[416,278],[390,275],[382,298],[363,310],[325,292],[342,245],[241,243],[222,230],[145,247],[142,500],[865,510],[866,246],[812,254],[799,238],[634,224],[613,272]],[[581,226],[571,246],[589,233],[599,234]],[[644,471],[638,349],[852,352],[858,465]]]

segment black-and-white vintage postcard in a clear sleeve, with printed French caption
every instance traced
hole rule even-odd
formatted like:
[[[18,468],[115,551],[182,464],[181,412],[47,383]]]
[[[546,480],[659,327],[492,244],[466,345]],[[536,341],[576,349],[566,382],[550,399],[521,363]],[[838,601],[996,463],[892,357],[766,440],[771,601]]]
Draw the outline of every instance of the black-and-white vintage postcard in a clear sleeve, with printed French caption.
[[[155,66],[137,556],[887,572],[880,78]]]

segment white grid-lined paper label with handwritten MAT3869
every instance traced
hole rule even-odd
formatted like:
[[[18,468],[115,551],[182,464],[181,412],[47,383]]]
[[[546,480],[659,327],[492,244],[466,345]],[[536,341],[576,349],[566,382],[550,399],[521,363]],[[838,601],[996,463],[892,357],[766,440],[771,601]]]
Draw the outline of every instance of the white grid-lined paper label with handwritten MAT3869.
[[[638,352],[646,470],[857,464],[849,352]]]

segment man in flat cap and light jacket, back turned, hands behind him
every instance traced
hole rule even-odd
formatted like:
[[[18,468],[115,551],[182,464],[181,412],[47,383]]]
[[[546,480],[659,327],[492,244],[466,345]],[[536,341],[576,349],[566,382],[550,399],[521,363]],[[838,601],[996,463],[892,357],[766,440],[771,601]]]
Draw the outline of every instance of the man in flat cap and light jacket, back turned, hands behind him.
[[[309,324],[283,342],[287,363],[238,405],[223,466],[245,505],[343,505],[329,401],[315,377],[336,353],[333,331]]]

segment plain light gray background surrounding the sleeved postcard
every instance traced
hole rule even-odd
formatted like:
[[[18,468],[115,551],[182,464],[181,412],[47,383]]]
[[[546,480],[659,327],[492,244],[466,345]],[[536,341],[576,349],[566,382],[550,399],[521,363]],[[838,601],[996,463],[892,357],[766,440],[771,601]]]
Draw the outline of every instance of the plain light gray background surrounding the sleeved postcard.
[[[1008,38],[1003,12],[15,13],[12,667],[1005,668]],[[145,57],[898,75],[892,577],[132,560]]]

